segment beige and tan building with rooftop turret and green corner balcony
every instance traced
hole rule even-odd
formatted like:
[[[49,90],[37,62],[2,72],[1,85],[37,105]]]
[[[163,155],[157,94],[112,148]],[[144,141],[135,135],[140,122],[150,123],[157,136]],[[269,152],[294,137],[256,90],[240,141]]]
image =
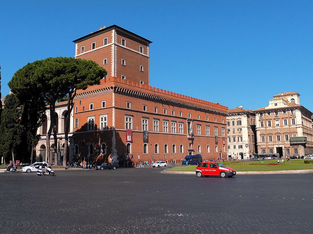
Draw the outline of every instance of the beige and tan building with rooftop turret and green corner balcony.
[[[313,113],[300,105],[299,96],[280,93],[268,106],[253,111],[259,153],[279,153],[280,157],[313,153]]]

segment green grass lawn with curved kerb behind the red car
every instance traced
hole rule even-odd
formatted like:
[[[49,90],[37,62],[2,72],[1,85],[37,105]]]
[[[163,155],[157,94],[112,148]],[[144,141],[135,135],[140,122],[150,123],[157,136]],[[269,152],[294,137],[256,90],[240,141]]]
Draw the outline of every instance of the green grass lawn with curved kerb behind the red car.
[[[313,169],[313,164],[305,164],[304,160],[307,159],[290,159],[290,163],[287,163],[285,159],[284,164],[279,165],[268,165],[269,163],[277,163],[277,160],[266,160],[266,161],[255,161],[255,162],[241,162],[243,165],[236,165],[236,161],[225,162],[225,166],[235,169],[236,171],[289,171],[289,170],[307,170]],[[238,161],[237,161],[238,162]],[[253,163],[251,165],[251,163]],[[223,164],[223,163],[222,163]],[[182,167],[173,167],[167,168],[168,171],[196,171],[196,165],[193,166],[182,166]]]

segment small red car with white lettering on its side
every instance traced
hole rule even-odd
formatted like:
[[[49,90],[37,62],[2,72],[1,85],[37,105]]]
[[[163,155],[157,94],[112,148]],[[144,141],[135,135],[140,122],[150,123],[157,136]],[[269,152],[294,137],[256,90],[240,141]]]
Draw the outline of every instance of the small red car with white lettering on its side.
[[[199,163],[196,169],[198,177],[208,177],[209,175],[220,176],[222,178],[233,177],[236,175],[236,170],[233,168],[225,167],[222,163]]]

